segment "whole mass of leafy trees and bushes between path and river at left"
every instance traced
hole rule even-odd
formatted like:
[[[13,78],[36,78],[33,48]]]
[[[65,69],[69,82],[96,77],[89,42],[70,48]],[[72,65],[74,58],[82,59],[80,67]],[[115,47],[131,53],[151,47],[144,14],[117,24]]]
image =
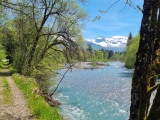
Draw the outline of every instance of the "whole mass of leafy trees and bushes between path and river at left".
[[[80,22],[87,14],[76,0],[2,1],[1,6],[13,14],[0,26],[10,64],[34,77],[46,93],[59,64],[70,61],[83,44]]]

